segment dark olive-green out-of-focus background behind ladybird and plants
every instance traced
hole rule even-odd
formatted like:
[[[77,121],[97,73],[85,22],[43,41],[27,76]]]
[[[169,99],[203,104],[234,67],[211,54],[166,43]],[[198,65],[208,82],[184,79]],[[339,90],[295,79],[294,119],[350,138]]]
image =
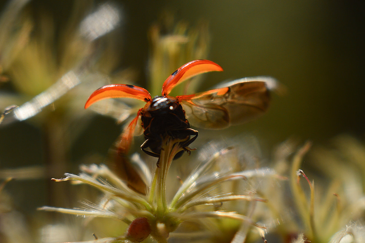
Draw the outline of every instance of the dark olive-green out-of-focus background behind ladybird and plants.
[[[364,2],[116,2],[122,13],[122,24],[115,30],[117,34],[114,38],[120,38],[115,53],[121,58],[114,71],[133,68],[137,73],[136,84],[140,86],[146,87],[148,80],[150,51],[147,32],[166,11],[176,21],[183,20],[191,26],[196,26],[199,21],[209,25],[210,48],[207,59],[221,65],[224,72],[206,75],[199,91],[207,90],[220,81],[262,75],[275,77],[285,86],[285,94],[273,94],[272,105],[263,117],[224,132],[215,131],[204,135],[206,131],[202,130],[201,142],[209,137],[220,139],[223,134],[229,137],[249,133],[257,136],[264,148],[269,150],[291,136],[311,140],[315,144],[326,143],[340,133],[363,138]],[[1,9],[6,3],[1,1]],[[100,3],[102,1],[93,2],[94,5]],[[35,19],[42,13],[52,16],[57,33],[68,22],[72,7],[73,1],[70,0],[35,0],[30,1],[25,10]],[[10,75],[8,78],[12,79]],[[16,90],[9,83],[2,84],[0,88],[9,93]],[[8,105],[12,103],[0,107],[1,110]],[[79,112],[86,114],[83,110]],[[52,117],[52,113],[49,117]],[[36,116],[0,127],[0,169],[47,164],[45,148],[49,141],[45,130],[50,128],[37,125],[37,119]],[[73,126],[82,126],[82,123]],[[16,207],[34,213],[36,207],[52,204],[53,200],[47,194],[47,188],[51,188],[50,177],[62,176],[64,172],[77,172],[77,164],[90,153],[105,156],[119,131],[120,126],[115,124],[114,119],[101,115],[94,117],[70,144],[65,166],[57,175],[47,174],[41,176],[41,180],[11,182],[7,185],[15,198]],[[136,149],[140,141],[142,138],[135,142]]]

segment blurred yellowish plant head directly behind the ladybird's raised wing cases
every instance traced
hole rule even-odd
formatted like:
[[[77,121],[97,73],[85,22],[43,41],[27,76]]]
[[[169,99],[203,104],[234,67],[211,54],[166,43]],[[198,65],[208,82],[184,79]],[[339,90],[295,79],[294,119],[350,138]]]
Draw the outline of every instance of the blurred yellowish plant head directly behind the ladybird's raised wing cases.
[[[151,26],[149,33],[149,86],[152,97],[161,93],[162,83],[176,67],[192,60],[207,59],[210,46],[208,24],[201,21],[196,27],[185,22],[175,24],[174,18],[165,12],[159,23]],[[201,76],[194,77],[184,86],[176,87],[174,93],[193,94]]]

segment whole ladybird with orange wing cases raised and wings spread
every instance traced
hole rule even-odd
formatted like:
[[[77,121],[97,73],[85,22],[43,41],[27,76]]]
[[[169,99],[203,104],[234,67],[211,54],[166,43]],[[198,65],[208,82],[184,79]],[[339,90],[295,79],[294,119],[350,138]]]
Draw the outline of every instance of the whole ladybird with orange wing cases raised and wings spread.
[[[137,116],[124,129],[118,152],[123,155],[128,153],[139,117],[145,136],[141,149],[147,155],[160,157],[162,138],[166,136],[181,140],[181,147],[189,152],[189,144],[198,136],[198,131],[192,129],[189,122],[201,128],[221,129],[249,121],[268,108],[269,90],[275,86],[275,81],[270,77],[253,77],[235,80],[214,90],[197,94],[169,96],[177,84],[210,71],[223,69],[208,60],[188,62],[165,80],[161,96],[154,98],[146,89],[130,84],[103,86],[91,94],[85,109],[105,98],[143,100],[146,105],[138,110]],[[174,159],[180,157],[183,152],[180,151]]]

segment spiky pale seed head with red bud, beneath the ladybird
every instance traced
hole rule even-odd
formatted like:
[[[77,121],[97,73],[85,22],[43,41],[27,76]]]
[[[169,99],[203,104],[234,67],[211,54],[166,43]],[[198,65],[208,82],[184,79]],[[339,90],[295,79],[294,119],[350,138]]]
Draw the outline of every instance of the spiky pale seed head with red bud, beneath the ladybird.
[[[134,160],[135,170],[139,171],[142,181],[147,182],[147,193],[145,195],[128,187],[125,181],[122,181],[104,165],[82,166],[81,170],[83,172],[79,175],[66,174],[64,179],[53,180],[77,181],[96,187],[103,193],[102,200],[97,204],[87,204],[84,209],[48,206],[41,209],[80,216],[108,217],[121,220],[129,225],[123,236],[103,239],[109,242],[116,240],[139,242],[149,235],[157,242],[167,242],[169,236],[173,239],[183,232],[189,232],[186,236],[189,239],[201,240],[203,235],[205,235],[205,238],[211,238],[217,233],[212,229],[218,226],[208,227],[208,225],[217,222],[209,220],[210,218],[217,218],[220,221],[224,221],[224,219],[235,221],[236,223],[233,224],[236,225],[235,228],[238,230],[235,237],[240,240],[246,238],[251,226],[263,236],[265,226],[255,223],[252,218],[253,209],[248,209],[250,215],[244,215],[237,211],[220,210],[219,208],[222,206],[217,205],[223,205],[223,203],[224,205],[230,205],[230,202],[247,201],[251,202],[250,205],[254,208],[256,202],[266,202],[267,200],[258,197],[251,188],[248,188],[248,185],[255,180],[262,180],[263,178],[278,179],[280,176],[269,168],[234,171],[233,168],[228,166],[226,170],[216,170],[218,167],[223,166],[219,163],[223,162],[224,157],[228,159],[233,156],[234,148],[224,148],[209,156],[184,181],[181,179],[180,187],[175,191],[172,199],[168,200],[166,197],[166,178],[173,157],[182,149],[179,141],[166,138],[162,143],[159,167],[156,167],[153,173],[141,160]],[[227,164],[228,162],[224,163]],[[144,172],[141,173],[141,171]],[[231,189],[241,185],[243,191],[244,184],[248,184],[246,190],[249,193],[247,194],[237,194],[233,190],[224,190],[224,187],[228,185]],[[241,207],[241,210],[243,208]],[[237,224],[237,222],[242,223]],[[189,230],[189,224],[196,225],[199,230]],[[178,229],[179,226],[180,229]],[[177,233],[174,235],[176,230]],[[199,237],[197,237],[198,235]],[[95,242],[100,240],[98,239]],[[233,242],[241,242],[240,240]]]

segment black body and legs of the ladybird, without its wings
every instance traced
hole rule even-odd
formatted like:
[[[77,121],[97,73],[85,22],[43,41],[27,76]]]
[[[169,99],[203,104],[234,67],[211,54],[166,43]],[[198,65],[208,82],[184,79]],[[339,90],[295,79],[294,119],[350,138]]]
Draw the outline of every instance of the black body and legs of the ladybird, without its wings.
[[[198,136],[198,131],[190,128],[183,107],[175,97],[156,96],[147,102],[141,112],[142,128],[146,141],[142,151],[154,157],[160,157],[162,140],[168,136],[182,140],[181,147],[188,151],[188,145]],[[191,135],[195,135],[190,138]],[[150,148],[151,151],[146,150]],[[183,154],[180,151],[174,159]]]

